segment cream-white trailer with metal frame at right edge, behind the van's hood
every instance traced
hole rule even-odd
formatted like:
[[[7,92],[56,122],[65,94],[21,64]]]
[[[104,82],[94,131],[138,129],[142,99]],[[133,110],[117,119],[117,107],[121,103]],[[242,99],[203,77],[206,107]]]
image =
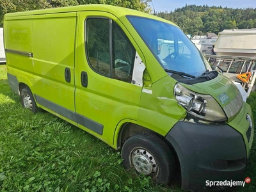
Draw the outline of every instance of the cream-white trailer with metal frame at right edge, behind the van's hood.
[[[206,58],[213,67],[220,67],[223,74],[235,82],[245,99],[255,90],[256,79],[256,29],[225,29],[220,32],[214,52]],[[237,76],[250,74],[248,81],[241,81]],[[246,93],[244,93],[246,92]]]

